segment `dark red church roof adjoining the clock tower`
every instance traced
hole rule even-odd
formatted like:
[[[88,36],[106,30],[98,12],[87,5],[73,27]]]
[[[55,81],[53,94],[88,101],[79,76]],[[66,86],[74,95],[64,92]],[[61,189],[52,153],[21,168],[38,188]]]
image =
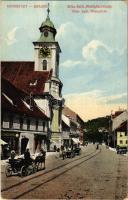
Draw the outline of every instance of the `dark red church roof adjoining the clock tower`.
[[[40,95],[44,93],[45,82],[51,78],[52,71],[34,71],[31,61],[3,61],[1,74],[20,90]]]

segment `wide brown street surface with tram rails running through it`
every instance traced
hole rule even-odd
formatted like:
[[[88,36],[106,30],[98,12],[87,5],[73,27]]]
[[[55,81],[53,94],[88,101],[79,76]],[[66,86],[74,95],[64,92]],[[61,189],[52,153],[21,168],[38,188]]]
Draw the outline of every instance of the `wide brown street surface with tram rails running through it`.
[[[104,145],[82,148],[80,156],[62,160],[55,153],[46,169],[25,178],[6,177],[1,168],[4,199],[128,199],[128,157]]]

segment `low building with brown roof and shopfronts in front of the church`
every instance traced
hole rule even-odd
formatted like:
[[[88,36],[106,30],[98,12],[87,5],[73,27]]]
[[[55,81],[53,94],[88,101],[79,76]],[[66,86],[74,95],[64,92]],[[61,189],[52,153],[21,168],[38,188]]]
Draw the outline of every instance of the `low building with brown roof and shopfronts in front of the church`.
[[[24,154],[26,148],[31,154],[42,147],[47,149],[49,118],[31,98],[26,101],[27,93],[17,89],[6,79],[1,80],[1,139],[2,157],[10,155],[11,150]]]

